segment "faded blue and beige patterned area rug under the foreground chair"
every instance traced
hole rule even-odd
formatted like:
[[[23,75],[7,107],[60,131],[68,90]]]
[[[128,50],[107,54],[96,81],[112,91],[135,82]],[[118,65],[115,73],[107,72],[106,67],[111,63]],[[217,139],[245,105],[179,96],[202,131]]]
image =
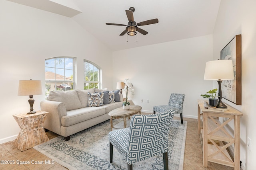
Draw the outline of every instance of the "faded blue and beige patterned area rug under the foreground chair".
[[[115,119],[113,124],[121,119]],[[169,134],[168,165],[170,170],[182,170],[186,141],[187,122],[173,120]],[[70,170],[127,170],[127,163],[113,150],[113,162],[109,162],[110,121],[80,131],[70,136],[69,141],[64,137],[56,137],[34,147],[58,164]],[[162,170],[162,154],[133,164],[134,170]]]

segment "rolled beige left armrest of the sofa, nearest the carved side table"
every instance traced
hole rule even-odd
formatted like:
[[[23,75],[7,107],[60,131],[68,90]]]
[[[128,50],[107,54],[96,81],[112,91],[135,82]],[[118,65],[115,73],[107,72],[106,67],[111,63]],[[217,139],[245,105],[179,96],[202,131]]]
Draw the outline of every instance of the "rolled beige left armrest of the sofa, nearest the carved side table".
[[[66,107],[64,103],[54,102],[49,100],[43,100],[40,102],[42,111],[49,112],[44,121],[43,127],[54,133],[60,134],[61,117],[67,115]]]

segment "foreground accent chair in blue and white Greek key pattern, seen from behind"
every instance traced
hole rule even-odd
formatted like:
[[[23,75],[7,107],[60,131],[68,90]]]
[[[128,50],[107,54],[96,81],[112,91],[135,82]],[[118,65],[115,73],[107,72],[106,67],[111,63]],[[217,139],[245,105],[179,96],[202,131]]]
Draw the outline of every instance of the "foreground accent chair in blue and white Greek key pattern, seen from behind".
[[[133,115],[130,127],[108,133],[110,163],[113,161],[113,146],[132,164],[152,156],[163,154],[164,170],[168,170],[168,136],[175,111],[150,115]]]

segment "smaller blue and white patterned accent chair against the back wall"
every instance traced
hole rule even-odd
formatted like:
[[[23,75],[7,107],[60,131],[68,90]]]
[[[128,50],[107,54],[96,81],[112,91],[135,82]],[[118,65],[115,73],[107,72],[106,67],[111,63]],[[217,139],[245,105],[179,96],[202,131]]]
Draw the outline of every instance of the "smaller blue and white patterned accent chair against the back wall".
[[[168,105],[154,106],[154,114],[156,112],[161,113],[167,110],[175,111],[175,114],[180,114],[180,121],[183,124],[183,103],[184,103],[185,94],[172,93],[169,99]]]

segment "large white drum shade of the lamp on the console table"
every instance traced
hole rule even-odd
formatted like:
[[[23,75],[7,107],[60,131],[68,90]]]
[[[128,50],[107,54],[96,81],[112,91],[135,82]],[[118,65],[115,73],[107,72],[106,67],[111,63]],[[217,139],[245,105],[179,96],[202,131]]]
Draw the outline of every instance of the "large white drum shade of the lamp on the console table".
[[[206,62],[204,80],[234,80],[232,60]]]

